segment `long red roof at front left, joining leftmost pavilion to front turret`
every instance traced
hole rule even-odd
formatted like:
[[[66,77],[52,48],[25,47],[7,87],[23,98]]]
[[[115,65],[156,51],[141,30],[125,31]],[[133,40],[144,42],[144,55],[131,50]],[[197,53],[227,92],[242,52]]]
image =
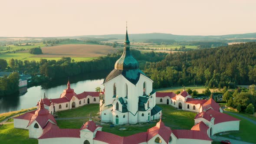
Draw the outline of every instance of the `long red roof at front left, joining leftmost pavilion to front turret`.
[[[55,138],[55,137],[77,137],[80,138],[79,129],[60,129],[55,124],[47,123],[43,129],[43,134],[38,139]]]

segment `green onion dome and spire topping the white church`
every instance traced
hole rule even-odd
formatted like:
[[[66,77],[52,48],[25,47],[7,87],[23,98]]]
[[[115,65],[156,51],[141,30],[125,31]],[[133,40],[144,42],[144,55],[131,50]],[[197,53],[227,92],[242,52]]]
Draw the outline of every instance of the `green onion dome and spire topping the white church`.
[[[138,61],[131,55],[130,52],[130,41],[128,38],[128,33],[126,29],[125,36],[125,47],[122,56],[115,62],[115,69],[139,69]]]

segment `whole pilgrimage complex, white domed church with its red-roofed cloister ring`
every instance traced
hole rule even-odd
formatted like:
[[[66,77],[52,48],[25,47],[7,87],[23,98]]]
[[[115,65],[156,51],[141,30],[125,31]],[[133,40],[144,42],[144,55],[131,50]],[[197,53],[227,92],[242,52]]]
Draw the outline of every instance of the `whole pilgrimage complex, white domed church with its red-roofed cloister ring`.
[[[103,92],[76,94],[68,81],[59,98],[45,97],[37,103],[37,110],[13,118],[14,128],[27,129],[29,137],[38,139],[39,144],[211,144],[213,134],[239,131],[240,120],[224,114],[213,98],[194,99],[185,90],[178,95],[154,92],[152,83],[131,56],[126,29],[124,52],[115,63],[115,69],[104,79]],[[91,103],[99,104],[103,123],[137,124],[153,120],[157,123],[148,131],[127,137],[102,131],[103,127],[91,117],[79,129],[57,126],[53,113]],[[196,112],[194,126],[190,130],[172,130],[165,126],[161,108],[156,104]]]

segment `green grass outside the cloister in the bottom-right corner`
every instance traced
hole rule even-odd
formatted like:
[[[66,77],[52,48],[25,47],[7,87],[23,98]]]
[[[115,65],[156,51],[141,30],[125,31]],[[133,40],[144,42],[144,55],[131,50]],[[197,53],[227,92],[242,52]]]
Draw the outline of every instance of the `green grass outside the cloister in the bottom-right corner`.
[[[239,114],[239,113],[237,113],[237,114]],[[229,134],[223,134],[221,136],[230,138],[230,135],[232,135],[234,137],[240,137],[242,141],[256,144],[256,138],[255,138],[256,125],[247,121],[246,119],[240,118],[236,115],[232,115],[232,114],[228,114],[228,115],[241,120],[240,121],[240,129],[239,129],[239,131],[232,131]]]

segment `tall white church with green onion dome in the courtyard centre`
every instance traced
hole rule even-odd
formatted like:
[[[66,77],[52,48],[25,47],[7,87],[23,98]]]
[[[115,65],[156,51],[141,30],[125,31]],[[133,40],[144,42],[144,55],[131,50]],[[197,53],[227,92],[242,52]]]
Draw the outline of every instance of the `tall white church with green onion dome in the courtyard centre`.
[[[105,91],[100,98],[101,121],[136,124],[159,119],[161,108],[156,105],[152,83],[131,55],[126,29],[124,52],[103,82]]]

